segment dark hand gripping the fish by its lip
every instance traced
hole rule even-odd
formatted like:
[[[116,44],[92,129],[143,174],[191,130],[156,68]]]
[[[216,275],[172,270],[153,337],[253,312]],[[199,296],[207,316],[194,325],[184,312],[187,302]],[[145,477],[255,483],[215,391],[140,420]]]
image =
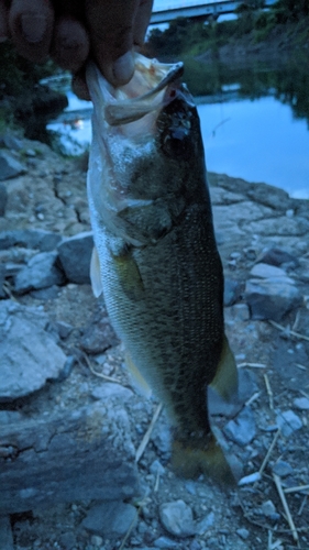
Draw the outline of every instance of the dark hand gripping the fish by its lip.
[[[76,75],[85,96],[82,67],[92,56],[113,86],[134,72],[132,50],[142,45],[153,0],[0,0],[0,42],[11,37],[32,62],[47,56]],[[84,89],[82,89],[84,88]]]

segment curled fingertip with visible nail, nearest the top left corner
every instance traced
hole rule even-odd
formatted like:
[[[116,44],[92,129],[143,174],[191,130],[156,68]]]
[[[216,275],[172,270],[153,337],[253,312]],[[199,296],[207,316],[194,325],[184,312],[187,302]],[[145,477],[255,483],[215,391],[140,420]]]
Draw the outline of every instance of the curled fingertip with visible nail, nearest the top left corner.
[[[16,51],[23,57],[41,62],[47,56],[54,26],[49,0],[12,0],[9,26]]]

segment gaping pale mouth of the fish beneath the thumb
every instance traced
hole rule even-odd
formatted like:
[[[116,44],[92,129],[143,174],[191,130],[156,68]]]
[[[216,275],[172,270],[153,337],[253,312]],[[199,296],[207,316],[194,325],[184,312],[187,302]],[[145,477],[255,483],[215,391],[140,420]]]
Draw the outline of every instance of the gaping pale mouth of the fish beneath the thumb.
[[[168,105],[180,85],[184,74],[181,62],[174,64],[159,63],[135,54],[135,72],[129,84],[113,88],[107,82],[95,64],[89,64],[88,78],[96,72],[96,80],[103,101],[102,111],[110,127],[128,124],[142,119],[150,112]],[[173,88],[170,94],[166,90]]]

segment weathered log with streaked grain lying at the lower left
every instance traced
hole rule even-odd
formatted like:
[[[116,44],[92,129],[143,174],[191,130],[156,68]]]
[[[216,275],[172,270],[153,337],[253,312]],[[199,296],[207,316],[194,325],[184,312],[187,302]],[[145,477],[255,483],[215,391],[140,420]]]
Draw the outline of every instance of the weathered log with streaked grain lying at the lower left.
[[[0,514],[140,495],[123,406],[95,403],[0,428]]]

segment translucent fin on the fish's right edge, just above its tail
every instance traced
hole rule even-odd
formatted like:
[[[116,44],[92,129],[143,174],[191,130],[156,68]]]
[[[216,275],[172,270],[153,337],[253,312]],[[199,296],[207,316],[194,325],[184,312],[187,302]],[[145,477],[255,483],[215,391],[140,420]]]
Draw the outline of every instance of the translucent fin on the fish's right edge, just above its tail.
[[[238,394],[239,374],[234,355],[231,351],[228,338],[224,336],[223,346],[216,372],[210,386],[224,399],[231,402]]]

